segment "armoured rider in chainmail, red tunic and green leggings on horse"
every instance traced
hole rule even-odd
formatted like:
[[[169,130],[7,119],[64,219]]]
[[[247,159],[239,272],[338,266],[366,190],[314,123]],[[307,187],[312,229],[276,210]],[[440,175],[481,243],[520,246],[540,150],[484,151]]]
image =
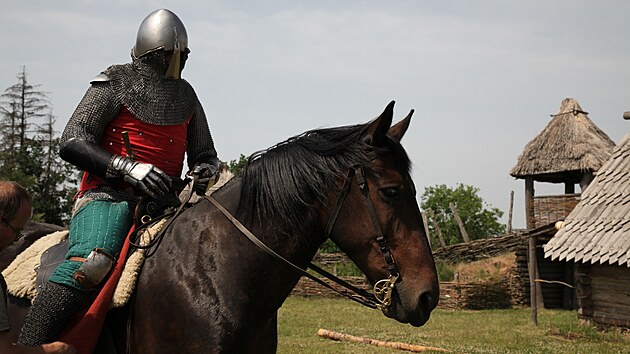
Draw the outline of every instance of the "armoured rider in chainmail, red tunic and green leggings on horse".
[[[112,65],[91,81],[61,137],[61,157],[85,171],[70,248],[36,297],[20,343],[56,339],[87,305],[108,274],[102,265],[122,248],[139,199],[169,193],[184,154],[200,181],[216,175],[219,160],[206,116],[192,86],[180,78],[189,52],[181,20],[156,10],[138,29],[132,62]]]

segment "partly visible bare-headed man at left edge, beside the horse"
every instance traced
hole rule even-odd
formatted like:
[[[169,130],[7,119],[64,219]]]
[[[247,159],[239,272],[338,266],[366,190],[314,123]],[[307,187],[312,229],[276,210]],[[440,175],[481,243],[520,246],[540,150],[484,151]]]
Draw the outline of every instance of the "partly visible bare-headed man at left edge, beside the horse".
[[[0,250],[20,238],[24,225],[31,217],[31,201],[26,190],[19,184],[0,181]],[[62,342],[42,344],[38,347],[15,345],[11,342],[9,314],[7,311],[7,284],[0,273],[0,353],[76,353],[71,345]]]

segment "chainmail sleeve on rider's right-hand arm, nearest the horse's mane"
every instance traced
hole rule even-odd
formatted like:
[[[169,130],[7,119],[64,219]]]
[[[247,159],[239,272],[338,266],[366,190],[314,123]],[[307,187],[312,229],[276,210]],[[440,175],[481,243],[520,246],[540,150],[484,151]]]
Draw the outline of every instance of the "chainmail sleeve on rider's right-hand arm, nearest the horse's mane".
[[[217,151],[214,148],[214,141],[210,134],[206,114],[203,111],[201,102],[197,100],[193,112],[193,118],[188,126],[188,167],[206,162],[214,166],[219,166]]]

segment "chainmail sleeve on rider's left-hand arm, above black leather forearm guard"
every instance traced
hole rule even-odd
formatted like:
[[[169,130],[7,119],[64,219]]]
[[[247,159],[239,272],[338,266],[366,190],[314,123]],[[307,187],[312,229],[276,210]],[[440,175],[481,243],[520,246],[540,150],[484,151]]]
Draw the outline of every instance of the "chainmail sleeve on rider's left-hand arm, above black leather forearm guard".
[[[61,135],[61,143],[78,138],[98,144],[105,127],[120,108],[109,82],[94,82],[70,117]]]

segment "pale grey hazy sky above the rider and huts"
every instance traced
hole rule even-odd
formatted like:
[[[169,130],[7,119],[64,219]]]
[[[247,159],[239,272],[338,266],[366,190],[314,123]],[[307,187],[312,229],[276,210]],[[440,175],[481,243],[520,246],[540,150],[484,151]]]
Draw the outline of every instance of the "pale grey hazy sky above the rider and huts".
[[[575,98],[619,143],[630,131],[627,1],[0,0],[0,89],[26,67],[59,133],[89,81],[130,61],[138,26],[167,8],[186,26],[183,77],[222,161],[304,131],[365,123],[396,101],[424,187],[479,188],[525,227],[525,145]],[[536,183],[536,195],[564,192]],[[579,190],[579,187],[578,187]]]

